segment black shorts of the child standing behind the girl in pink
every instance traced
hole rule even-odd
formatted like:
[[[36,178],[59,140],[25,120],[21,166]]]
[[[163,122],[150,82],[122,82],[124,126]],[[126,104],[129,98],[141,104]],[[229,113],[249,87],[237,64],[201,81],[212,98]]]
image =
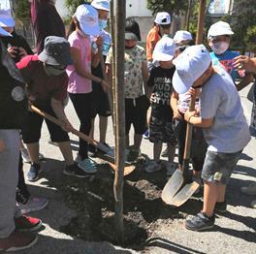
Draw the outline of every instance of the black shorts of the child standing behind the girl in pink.
[[[97,114],[108,117],[112,115],[108,94],[99,83],[92,82],[91,115],[95,118]]]

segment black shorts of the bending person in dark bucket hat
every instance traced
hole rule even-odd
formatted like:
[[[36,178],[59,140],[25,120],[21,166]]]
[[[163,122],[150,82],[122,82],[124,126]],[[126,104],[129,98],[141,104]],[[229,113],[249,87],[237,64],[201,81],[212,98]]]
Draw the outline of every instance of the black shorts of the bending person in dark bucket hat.
[[[40,106],[40,110],[56,117],[50,106]],[[41,129],[44,117],[29,111],[21,128],[22,140],[24,143],[38,143],[41,138]],[[46,119],[51,142],[63,143],[69,141],[69,135],[61,127]]]

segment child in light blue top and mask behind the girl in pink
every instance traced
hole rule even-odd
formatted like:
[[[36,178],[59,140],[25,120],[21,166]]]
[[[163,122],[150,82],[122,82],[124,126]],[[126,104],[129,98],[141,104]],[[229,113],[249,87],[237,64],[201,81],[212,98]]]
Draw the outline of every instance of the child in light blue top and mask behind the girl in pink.
[[[97,10],[99,14],[99,26],[100,26],[100,36],[103,40],[102,48],[95,47],[96,50],[100,49],[104,57],[104,62],[108,55],[108,52],[112,45],[112,36],[110,33],[105,31],[108,25],[108,16],[110,13],[110,1],[109,0],[94,0],[91,5]],[[94,46],[96,44],[93,44]],[[103,68],[103,70],[102,70]],[[101,79],[104,78],[103,72],[105,72],[105,67],[102,67],[101,62],[96,68],[91,69],[91,72],[94,76],[97,76]],[[99,114],[99,130],[100,130],[100,142],[108,145],[106,143],[106,134],[108,128],[108,117],[111,115],[110,102],[108,94],[102,89],[102,86],[97,82],[92,82],[92,103],[93,103],[93,114],[92,114],[92,124],[91,124],[91,133],[90,136],[94,136],[94,119],[97,114]],[[96,152],[95,146],[88,145],[90,156],[94,155]]]

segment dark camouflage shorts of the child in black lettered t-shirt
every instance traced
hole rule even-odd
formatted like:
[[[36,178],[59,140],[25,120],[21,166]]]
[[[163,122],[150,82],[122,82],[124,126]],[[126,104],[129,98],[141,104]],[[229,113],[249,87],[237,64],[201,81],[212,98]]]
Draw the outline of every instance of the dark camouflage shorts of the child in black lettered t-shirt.
[[[152,104],[151,108],[149,141],[176,145],[176,136],[173,130],[174,112],[171,106]]]

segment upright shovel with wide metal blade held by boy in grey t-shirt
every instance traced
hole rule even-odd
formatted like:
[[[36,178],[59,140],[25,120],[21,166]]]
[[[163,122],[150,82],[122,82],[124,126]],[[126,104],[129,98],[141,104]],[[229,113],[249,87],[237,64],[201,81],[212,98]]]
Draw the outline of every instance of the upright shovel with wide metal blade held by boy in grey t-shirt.
[[[193,111],[195,108],[195,100],[195,96],[192,96],[189,109],[190,111]],[[188,123],[182,172],[176,170],[175,174],[169,179],[162,192],[162,200],[171,206],[183,205],[200,186],[198,182],[192,181],[192,175],[189,174],[192,131],[193,126]]]

